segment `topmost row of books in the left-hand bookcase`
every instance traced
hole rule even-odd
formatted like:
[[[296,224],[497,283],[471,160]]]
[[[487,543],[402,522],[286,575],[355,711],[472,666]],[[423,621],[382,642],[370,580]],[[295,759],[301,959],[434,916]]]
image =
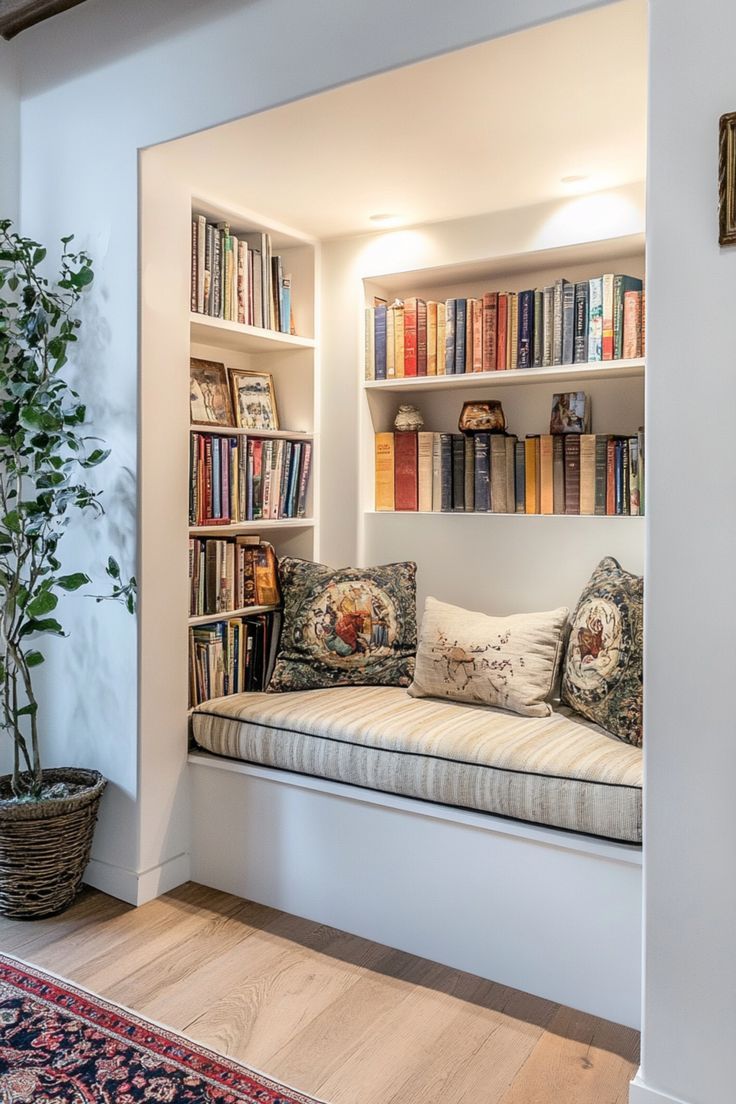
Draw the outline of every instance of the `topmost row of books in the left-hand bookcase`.
[[[195,314],[294,333],[291,276],[270,234],[192,219],[191,308]]]

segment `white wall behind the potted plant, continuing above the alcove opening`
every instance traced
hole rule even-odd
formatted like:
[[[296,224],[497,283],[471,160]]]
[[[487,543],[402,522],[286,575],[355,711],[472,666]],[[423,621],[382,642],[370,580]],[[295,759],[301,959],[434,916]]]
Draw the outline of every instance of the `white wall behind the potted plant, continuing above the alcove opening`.
[[[94,543],[92,533],[77,532],[82,566],[98,574],[110,544],[121,546],[126,566],[134,559],[138,149],[590,7],[588,0],[458,0],[448,19],[447,6],[433,0],[418,19],[410,0],[96,0],[18,40],[24,229],[43,241],[73,230],[97,261],[81,367],[95,423],[114,448],[105,470],[114,508],[108,531]],[[159,818],[146,814],[141,821],[136,804],[134,625],[117,608],[77,601],[68,611],[72,640],[60,643],[45,671],[50,760],[81,758],[111,779],[92,877],[136,898],[146,840]],[[175,837],[167,843],[171,856],[181,847]]]

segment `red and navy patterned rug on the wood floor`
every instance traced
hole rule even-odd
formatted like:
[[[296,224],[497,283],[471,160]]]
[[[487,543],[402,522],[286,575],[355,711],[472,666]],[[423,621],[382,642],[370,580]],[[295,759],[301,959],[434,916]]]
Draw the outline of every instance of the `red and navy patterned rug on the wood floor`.
[[[0,955],[2,1104],[316,1104],[134,1012]]]

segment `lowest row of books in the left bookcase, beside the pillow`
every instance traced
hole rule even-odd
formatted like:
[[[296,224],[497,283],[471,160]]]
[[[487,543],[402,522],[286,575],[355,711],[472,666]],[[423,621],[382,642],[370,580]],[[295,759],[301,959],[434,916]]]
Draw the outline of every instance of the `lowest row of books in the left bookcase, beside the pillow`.
[[[276,657],[280,613],[195,625],[189,630],[189,700],[265,690]]]

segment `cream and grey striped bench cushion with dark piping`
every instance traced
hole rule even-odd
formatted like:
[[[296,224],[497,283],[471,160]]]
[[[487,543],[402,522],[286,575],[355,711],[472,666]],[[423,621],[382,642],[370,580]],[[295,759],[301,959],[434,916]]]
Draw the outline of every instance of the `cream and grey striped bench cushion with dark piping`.
[[[641,750],[567,711],[518,716],[401,687],[331,687],[218,698],[193,711],[192,730],[217,755],[641,842]]]

